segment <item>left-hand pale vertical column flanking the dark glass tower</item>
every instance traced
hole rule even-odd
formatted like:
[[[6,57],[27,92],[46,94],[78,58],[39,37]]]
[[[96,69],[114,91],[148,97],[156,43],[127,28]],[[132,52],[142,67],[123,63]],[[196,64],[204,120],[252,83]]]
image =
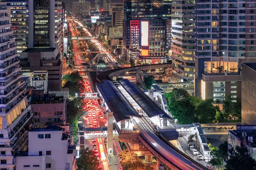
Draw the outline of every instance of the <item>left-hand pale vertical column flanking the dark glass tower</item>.
[[[34,47],[34,0],[29,0],[29,48]]]

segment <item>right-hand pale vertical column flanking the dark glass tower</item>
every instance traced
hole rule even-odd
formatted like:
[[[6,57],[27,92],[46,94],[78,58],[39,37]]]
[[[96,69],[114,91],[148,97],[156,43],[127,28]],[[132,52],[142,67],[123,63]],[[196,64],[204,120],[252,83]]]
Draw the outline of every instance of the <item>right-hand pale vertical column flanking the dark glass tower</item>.
[[[50,14],[49,14],[49,18],[50,18],[50,40],[49,40],[49,44],[50,44],[50,48],[54,48],[55,47],[55,0],[50,0]]]

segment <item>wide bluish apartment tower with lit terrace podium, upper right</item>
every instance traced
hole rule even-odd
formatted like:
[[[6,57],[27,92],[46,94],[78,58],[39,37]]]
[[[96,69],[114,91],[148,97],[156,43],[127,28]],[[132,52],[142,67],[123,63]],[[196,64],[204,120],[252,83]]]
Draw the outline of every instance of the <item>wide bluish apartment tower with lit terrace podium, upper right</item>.
[[[241,99],[241,63],[256,62],[256,3],[198,0],[195,5],[195,95]]]

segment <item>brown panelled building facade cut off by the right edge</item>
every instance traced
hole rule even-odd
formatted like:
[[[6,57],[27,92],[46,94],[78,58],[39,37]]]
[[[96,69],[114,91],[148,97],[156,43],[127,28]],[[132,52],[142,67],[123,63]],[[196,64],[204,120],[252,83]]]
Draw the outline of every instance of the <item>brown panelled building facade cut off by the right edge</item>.
[[[242,123],[256,125],[256,63],[242,63]]]

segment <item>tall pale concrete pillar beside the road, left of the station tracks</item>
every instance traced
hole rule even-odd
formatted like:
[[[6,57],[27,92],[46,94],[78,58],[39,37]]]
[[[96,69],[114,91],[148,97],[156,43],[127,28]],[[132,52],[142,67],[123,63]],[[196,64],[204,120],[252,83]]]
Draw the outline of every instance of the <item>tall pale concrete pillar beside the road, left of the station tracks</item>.
[[[108,126],[107,150],[108,150],[108,154],[113,155],[113,112],[107,112],[107,126]]]

